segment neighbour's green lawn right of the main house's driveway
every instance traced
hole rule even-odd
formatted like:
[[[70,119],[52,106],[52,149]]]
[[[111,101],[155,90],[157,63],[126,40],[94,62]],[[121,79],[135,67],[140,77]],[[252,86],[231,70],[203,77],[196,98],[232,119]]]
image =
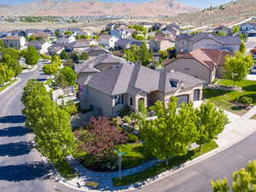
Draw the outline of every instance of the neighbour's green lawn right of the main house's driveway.
[[[227,79],[219,79],[218,84],[232,86],[233,81]],[[203,96],[208,102],[213,102],[218,108],[230,111],[242,115],[247,113],[247,109],[237,108],[234,103],[239,96],[248,96],[253,98],[253,104],[256,104],[256,81],[242,80],[238,82],[236,86],[242,88],[242,90],[236,91],[224,91],[224,90],[204,90]]]

